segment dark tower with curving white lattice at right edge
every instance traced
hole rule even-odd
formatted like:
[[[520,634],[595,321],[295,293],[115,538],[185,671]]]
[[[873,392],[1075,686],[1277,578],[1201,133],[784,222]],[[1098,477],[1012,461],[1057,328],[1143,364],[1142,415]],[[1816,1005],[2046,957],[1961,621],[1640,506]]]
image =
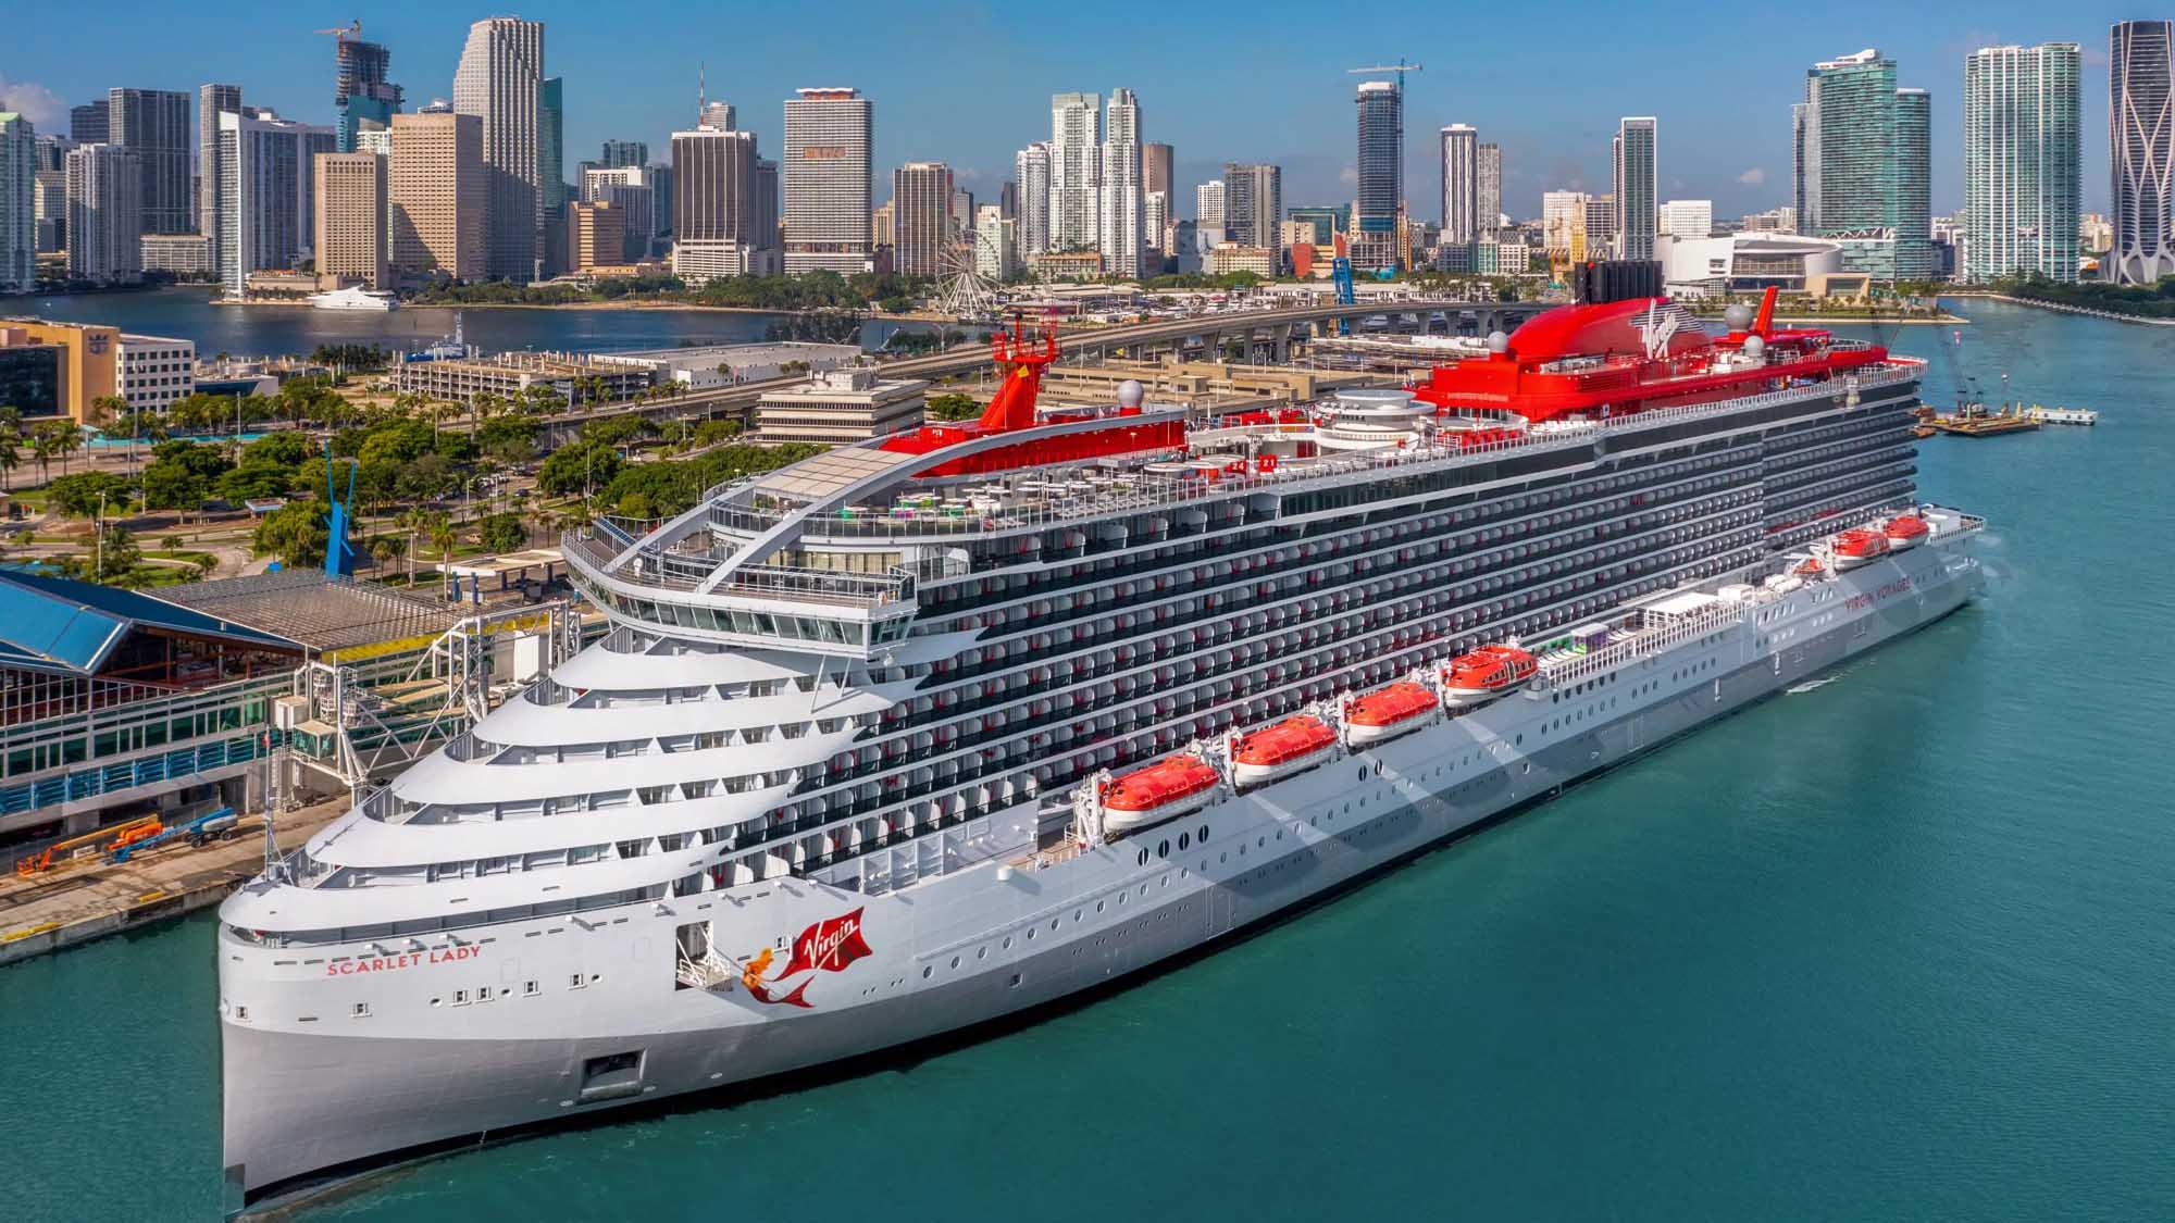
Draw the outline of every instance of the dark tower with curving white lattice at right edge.
[[[2175,22],[2108,30],[2108,163],[2114,172],[2110,279],[2175,274]]]

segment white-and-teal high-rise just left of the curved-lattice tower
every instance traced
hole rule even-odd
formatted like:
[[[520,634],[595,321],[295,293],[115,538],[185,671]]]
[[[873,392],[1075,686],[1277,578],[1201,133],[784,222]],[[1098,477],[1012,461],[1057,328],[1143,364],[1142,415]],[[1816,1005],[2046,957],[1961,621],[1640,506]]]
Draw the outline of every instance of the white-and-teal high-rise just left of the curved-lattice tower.
[[[2077,279],[2079,65],[2077,44],[1964,57],[1964,281]]]

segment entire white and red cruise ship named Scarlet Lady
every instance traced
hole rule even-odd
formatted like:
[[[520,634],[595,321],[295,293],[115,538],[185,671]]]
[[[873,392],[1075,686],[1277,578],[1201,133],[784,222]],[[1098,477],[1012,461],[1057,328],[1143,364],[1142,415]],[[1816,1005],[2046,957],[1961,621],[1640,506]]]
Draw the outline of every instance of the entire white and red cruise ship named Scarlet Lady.
[[[1773,300],[1209,420],[994,344],[977,422],[568,535],[609,633],[224,903],[233,1208],[1122,979],[1981,585],[1921,363]]]

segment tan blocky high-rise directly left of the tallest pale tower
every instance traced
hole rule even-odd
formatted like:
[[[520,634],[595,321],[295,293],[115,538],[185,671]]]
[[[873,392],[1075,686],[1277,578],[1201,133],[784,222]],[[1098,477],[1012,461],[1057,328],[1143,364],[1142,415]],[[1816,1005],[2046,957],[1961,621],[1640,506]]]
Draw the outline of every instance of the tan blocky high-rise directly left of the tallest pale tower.
[[[394,268],[405,279],[481,281],[489,200],[483,120],[452,111],[394,115],[391,146],[385,194]]]

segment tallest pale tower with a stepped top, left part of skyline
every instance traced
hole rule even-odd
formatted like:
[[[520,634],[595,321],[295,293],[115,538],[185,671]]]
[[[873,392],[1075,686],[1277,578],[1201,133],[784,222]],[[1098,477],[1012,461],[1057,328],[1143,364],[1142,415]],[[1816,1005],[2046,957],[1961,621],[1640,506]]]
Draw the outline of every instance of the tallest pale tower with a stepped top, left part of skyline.
[[[544,159],[537,111],[544,98],[544,22],[485,17],[468,28],[452,74],[452,109],[483,120],[485,274],[529,281],[544,231]]]

